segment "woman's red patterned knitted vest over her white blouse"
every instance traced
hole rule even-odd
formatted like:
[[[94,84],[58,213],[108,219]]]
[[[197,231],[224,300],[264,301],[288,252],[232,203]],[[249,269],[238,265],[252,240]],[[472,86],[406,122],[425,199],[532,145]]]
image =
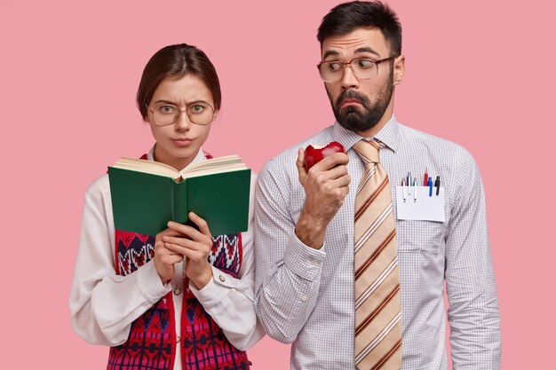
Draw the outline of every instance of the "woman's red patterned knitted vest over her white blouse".
[[[115,271],[118,275],[136,271],[154,256],[155,236],[116,230]],[[242,266],[242,234],[213,237],[209,263],[238,278]],[[187,287],[187,281],[184,285]],[[181,363],[185,370],[249,370],[250,361],[245,351],[237,350],[228,342],[195,295],[185,289],[182,296],[179,343],[170,292],[131,324],[127,342],[110,348],[107,370],[172,370],[177,344],[181,346]]]

